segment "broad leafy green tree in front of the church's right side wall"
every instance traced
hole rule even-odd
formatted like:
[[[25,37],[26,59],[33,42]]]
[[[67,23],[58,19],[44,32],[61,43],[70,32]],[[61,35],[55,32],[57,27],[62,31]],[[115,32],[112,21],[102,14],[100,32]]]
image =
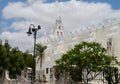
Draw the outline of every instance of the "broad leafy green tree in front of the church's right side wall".
[[[99,72],[109,67],[114,60],[115,57],[108,55],[106,49],[99,43],[82,42],[63,54],[61,59],[56,60],[56,67],[57,70],[61,69],[59,71],[61,73],[69,73],[74,81],[83,79],[85,83],[88,83],[99,75]],[[94,76],[90,76],[92,73]]]

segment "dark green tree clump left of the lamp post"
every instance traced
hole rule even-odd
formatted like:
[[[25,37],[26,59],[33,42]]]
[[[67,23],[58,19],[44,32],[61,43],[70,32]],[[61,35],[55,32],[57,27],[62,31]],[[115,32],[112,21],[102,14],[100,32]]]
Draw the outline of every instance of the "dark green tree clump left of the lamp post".
[[[31,54],[20,51],[18,47],[12,48],[8,40],[4,44],[0,42],[0,74],[8,70],[10,77],[16,78],[25,67],[32,67],[32,64]]]

